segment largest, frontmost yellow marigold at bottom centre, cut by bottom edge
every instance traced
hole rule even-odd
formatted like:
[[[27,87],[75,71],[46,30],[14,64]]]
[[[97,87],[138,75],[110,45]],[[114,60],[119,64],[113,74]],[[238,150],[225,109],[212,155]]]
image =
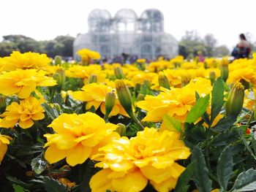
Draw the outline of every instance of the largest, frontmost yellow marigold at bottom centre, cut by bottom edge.
[[[113,139],[92,157],[103,169],[91,177],[91,191],[142,191],[148,181],[157,191],[172,190],[185,169],[176,161],[190,155],[178,138],[176,132],[145,128],[137,137]]]

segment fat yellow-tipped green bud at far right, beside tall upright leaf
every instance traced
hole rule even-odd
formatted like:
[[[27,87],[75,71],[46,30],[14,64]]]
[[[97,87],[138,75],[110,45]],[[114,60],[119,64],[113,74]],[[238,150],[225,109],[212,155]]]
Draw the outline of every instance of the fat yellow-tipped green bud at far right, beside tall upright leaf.
[[[244,104],[244,86],[236,82],[230,90],[226,101],[227,115],[239,115]]]

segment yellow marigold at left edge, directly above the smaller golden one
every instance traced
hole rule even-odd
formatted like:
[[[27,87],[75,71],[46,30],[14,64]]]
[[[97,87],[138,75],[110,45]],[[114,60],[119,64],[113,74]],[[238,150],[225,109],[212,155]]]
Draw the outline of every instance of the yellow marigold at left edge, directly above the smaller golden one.
[[[37,86],[53,85],[56,85],[56,80],[46,77],[45,72],[37,69],[17,69],[0,75],[0,93],[4,96],[17,94],[18,98],[25,99]]]

